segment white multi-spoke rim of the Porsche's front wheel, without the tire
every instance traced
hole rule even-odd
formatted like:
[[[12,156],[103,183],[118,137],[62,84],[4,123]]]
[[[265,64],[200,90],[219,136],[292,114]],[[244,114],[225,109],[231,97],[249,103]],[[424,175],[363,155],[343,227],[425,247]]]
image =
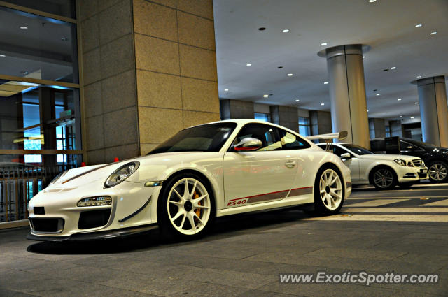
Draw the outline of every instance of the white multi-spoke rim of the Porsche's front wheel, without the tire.
[[[209,193],[195,178],[182,178],[169,191],[168,218],[183,235],[199,233],[207,225],[211,212]]]

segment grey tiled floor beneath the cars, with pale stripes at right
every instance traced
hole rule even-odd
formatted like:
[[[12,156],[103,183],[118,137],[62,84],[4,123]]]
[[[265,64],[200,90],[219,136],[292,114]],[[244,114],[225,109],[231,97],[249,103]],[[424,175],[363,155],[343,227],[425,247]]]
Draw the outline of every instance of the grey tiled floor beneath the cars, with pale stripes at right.
[[[0,232],[0,296],[447,296],[448,186],[353,191],[342,213],[220,219],[209,236],[55,244]],[[279,273],[437,273],[438,284],[282,284]]]

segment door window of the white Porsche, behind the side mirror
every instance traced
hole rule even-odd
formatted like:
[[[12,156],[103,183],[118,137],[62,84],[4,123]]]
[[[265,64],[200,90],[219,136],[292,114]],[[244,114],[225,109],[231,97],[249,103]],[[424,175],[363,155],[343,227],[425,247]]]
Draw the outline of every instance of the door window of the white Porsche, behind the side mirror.
[[[281,149],[281,143],[276,135],[276,128],[274,126],[264,124],[246,124],[246,126],[239,131],[234,144],[239,143],[246,137],[253,137],[261,140],[263,145],[260,149],[258,149],[258,151]]]

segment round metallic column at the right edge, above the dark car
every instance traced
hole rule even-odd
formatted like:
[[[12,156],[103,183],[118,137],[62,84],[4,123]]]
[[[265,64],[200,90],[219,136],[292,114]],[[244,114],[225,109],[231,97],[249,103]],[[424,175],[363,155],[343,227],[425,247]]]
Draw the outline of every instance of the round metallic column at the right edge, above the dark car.
[[[421,133],[425,143],[448,147],[448,105],[444,76],[417,80]]]

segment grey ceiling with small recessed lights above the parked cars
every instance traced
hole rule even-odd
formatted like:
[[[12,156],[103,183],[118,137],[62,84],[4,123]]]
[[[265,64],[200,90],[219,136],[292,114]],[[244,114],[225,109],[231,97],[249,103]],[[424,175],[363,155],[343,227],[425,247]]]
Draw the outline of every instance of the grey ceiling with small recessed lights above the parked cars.
[[[448,75],[447,15],[447,0],[215,0],[219,97],[330,110],[317,52],[362,43],[369,117],[419,121],[410,82]]]

